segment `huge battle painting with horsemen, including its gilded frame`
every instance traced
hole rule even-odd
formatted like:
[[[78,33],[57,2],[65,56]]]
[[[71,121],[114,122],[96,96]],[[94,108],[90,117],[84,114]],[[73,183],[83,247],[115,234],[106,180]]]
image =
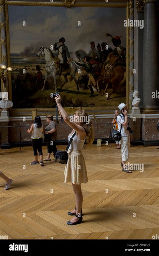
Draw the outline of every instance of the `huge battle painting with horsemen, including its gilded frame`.
[[[86,2],[8,2],[14,113],[55,108],[56,92],[65,108],[108,113],[129,103],[128,2]]]

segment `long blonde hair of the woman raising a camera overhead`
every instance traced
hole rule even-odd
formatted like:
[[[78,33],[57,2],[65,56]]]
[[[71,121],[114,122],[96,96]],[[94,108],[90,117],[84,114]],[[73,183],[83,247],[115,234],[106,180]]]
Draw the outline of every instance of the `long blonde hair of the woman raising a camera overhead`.
[[[86,113],[86,111],[82,109],[78,109],[76,111],[76,115],[89,117],[88,113]],[[83,122],[82,124],[86,124],[86,122]],[[94,141],[94,129],[93,129],[93,123],[91,119],[89,119],[89,124],[86,125],[86,131],[87,131],[87,144],[88,146],[91,146]]]

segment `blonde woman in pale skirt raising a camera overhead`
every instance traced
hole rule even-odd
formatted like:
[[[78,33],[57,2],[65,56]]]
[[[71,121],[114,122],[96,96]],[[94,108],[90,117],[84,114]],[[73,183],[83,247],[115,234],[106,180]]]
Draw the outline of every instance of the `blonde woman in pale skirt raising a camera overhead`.
[[[81,183],[87,183],[87,170],[84,157],[82,155],[82,148],[84,146],[86,137],[89,146],[94,141],[94,131],[92,121],[89,120],[89,115],[85,110],[77,110],[73,120],[69,119],[68,114],[61,106],[61,97],[56,95],[56,104],[58,106],[59,114],[63,117],[64,121],[73,128],[73,131],[68,135],[70,140],[73,133],[76,132],[73,141],[68,149],[68,161],[65,166],[65,183],[71,182],[73,192],[75,194],[76,207],[75,210],[68,213],[68,215],[75,215],[70,221],[67,221],[68,225],[76,225],[82,222],[82,203],[83,195],[81,191]],[[87,120],[87,121],[86,121]],[[86,123],[87,122],[87,123]],[[86,125],[86,129],[83,127]]]

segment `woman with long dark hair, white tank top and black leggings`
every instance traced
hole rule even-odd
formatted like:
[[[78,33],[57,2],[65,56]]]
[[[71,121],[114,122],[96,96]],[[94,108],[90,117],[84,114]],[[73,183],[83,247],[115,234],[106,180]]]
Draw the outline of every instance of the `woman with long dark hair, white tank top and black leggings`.
[[[43,152],[42,152],[42,143],[43,143],[43,133],[44,127],[41,122],[40,116],[36,116],[34,119],[31,128],[27,130],[28,133],[32,133],[32,147],[34,151],[35,160],[30,164],[39,164],[38,161],[38,152],[40,157],[40,164],[43,166]]]

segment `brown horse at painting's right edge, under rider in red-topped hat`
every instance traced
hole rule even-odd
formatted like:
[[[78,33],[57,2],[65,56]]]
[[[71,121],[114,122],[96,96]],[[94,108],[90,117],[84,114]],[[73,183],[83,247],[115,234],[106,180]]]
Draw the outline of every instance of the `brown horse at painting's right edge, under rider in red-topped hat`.
[[[108,77],[106,74],[106,63],[113,58],[113,53],[110,53],[107,57],[107,60],[103,63],[101,75],[97,79],[97,88],[98,91],[101,92],[100,89],[103,89],[103,92],[101,95],[105,95],[107,93],[108,86],[111,86],[113,91],[108,95],[106,98],[107,100],[110,99],[110,96],[117,92],[117,87],[122,87],[123,94],[121,96],[124,96],[126,94],[126,68],[124,66],[115,66],[112,68],[111,74]],[[116,57],[114,57],[116,58]]]

